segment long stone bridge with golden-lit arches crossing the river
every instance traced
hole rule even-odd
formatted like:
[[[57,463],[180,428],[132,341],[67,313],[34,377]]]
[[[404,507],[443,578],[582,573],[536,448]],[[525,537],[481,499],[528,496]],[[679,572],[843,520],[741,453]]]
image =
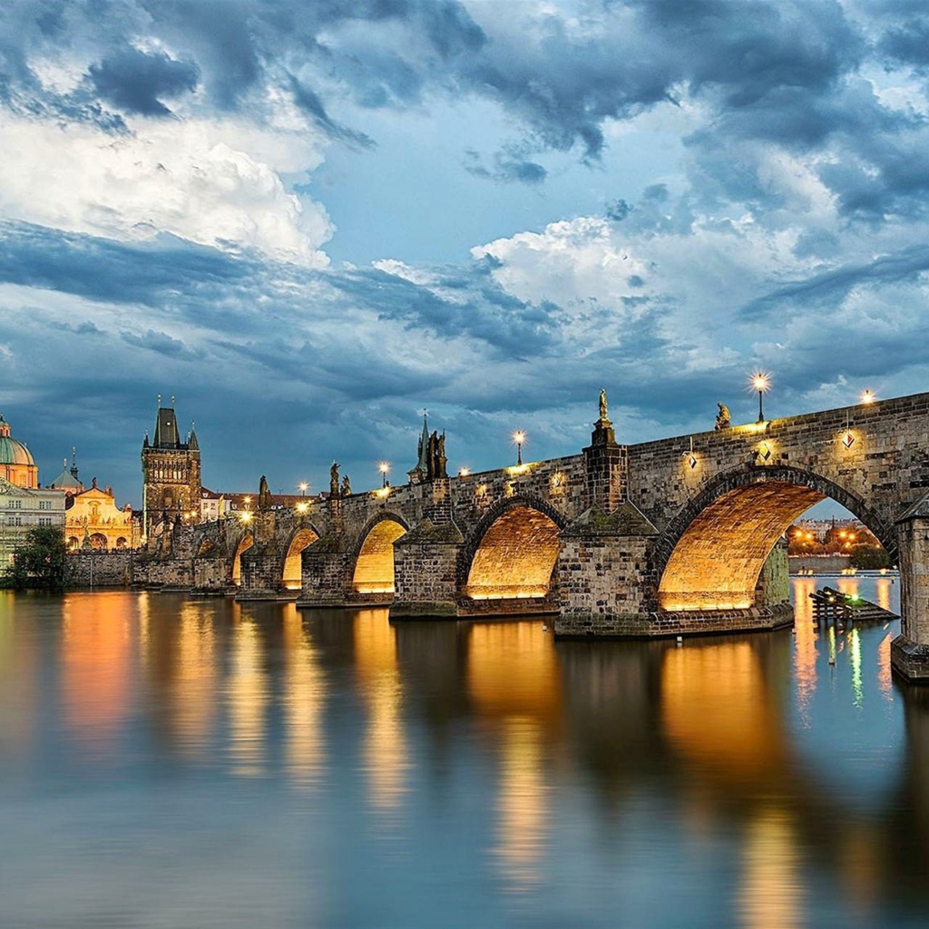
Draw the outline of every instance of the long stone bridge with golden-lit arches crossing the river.
[[[792,622],[779,540],[827,497],[899,564],[895,666],[919,677],[929,394],[637,445],[601,417],[577,455],[196,527],[148,576],[180,558],[203,592],[386,604],[395,618],[550,613],[565,636],[767,629]]]

